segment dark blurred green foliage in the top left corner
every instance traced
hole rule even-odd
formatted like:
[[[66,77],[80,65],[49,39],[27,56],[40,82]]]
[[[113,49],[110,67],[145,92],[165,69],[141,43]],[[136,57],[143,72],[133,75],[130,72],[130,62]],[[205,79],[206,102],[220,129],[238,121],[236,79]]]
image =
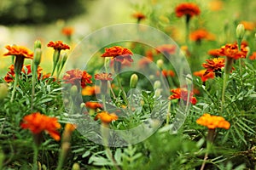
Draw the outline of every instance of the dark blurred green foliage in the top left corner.
[[[92,0],[1,0],[0,25],[41,24],[84,14]]]

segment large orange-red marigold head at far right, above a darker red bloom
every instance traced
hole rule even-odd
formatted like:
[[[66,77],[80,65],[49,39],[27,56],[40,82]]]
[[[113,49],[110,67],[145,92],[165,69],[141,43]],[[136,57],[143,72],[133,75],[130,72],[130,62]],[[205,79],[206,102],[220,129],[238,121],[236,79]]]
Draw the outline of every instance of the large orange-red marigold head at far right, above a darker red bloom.
[[[226,56],[233,59],[246,58],[248,49],[245,45],[241,44],[241,51],[238,50],[237,44],[226,44],[219,49],[221,56]]]

